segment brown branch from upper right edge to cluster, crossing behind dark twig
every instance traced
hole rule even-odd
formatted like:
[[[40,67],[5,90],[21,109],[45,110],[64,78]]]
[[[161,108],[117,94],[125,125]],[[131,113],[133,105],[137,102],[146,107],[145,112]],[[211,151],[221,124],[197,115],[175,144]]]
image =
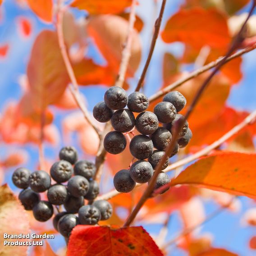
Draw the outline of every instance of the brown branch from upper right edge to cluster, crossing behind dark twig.
[[[255,48],[256,48],[256,44],[254,44],[253,46],[247,47],[243,50],[240,50],[240,51],[236,52],[235,54],[231,55],[229,58],[227,58],[225,60],[225,63],[229,62],[232,59],[238,58],[238,57],[246,54],[247,52],[250,52],[250,51],[254,50]],[[192,78],[195,78],[195,77],[199,76],[200,74],[205,73],[206,71],[216,67],[223,59],[224,59],[224,57],[220,57],[219,59],[210,62],[209,64],[203,66],[202,68],[193,71],[192,73],[187,75],[187,77],[181,78],[181,79],[177,80],[176,82],[170,84],[169,86],[163,88],[162,90],[156,92],[154,95],[149,97],[149,102],[157,100],[161,96],[164,96],[166,93],[168,93],[168,92],[174,90],[175,88],[181,86],[183,83],[185,83],[185,82],[191,80]]]

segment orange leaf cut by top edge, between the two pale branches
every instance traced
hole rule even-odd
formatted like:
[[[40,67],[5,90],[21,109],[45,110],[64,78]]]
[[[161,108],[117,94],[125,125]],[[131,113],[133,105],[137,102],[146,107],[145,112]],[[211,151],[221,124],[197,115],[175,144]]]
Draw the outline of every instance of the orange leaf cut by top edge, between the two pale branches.
[[[74,0],[71,6],[87,10],[89,14],[118,14],[131,4],[132,0]]]

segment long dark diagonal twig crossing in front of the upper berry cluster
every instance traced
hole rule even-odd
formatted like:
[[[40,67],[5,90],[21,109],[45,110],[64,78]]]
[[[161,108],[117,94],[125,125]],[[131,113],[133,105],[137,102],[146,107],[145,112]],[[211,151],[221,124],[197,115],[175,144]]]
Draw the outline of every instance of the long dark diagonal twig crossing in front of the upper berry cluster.
[[[229,47],[229,50],[228,50],[227,54],[225,55],[224,59],[222,59],[222,61],[215,67],[215,69],[210,73],[208,78],[206,78],[206,80],[203,82],[201,87],[198,89],[198,91],[197,91],[197,93],[196,93],[196,95],[195,95],[191,105],[188,107],[187,113],[185,114],[184,118],[183,119],[178,119],[177,126],[174,127],[174,129],[173,129],[172,141],[170,142],[169,146],[167,147],[167,149],[165,151],[165,155],[161,158],[159,164],[156,166],[155,172],[154,172],[153,177],[151,178],[151,180],[149,182],[148,187],[144,191],[142,197],[138,201],[138,203],[135,206],[133,212],[128,216],[127,220],[125,221],[125,223],[123,225],[124,227],[128,227],[128,226],[130,226],[130,224],[132,224],[132,222],[135,219],[135,217],[137,216],[139,210],[142,208],[142,206],[144,205],[146,200],[151,196],[151,193],[153,192],[154,187],[155,187],[155,182],[156,182],[156,179],[158,177],[158,174],[160,174],[160,172],[161,172],[161,167],[165,163],[165,160],[170,155],[170,153],[174,150],[175,143],[178,140],[178,133],[182,129],[185,121],[192,114],[192,111],[195,109],[195,106],[197,105],[197,102],[199,101],[203,91],[206,89],[207,85],[209,84],[211,79],[215,76],[215,74],[219,71],[219,69],[224,65],[225,60],[233,53],[234,50],[237,49],[237,47],[244,40],[244,37],[243,37],[244,28],[245,28],[245,25],[246,25],[248,19],[251,16],[253,10],[254,10],[254,8],[255,8],[255,4],[256,3],[253,3],[253,5],[251,7],[251,10],[250,10],[250,12],[249,12],[249,14],[247,16],[247,19],[243,23],[240,31],[238,32],[237,37],[234,39],[234,41],[232,42],[231,46]]]

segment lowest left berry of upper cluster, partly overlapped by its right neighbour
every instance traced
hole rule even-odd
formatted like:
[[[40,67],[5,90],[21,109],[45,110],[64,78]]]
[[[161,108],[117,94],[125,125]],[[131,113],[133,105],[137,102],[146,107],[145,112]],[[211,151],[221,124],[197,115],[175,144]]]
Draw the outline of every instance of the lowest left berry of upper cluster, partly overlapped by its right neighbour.
[[[131,178],[128,170],[123,169],[114,175],[114,187],[118,192],[128,193],[133,190],[136,182]]]

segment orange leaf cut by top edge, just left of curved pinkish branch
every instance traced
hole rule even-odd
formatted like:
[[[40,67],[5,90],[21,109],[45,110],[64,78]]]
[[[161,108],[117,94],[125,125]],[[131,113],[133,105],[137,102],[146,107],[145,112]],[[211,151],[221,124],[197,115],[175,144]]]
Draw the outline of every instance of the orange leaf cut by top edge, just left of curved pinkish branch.
[[[29,7],[37,16],[46,22],[52,20],[52,0],[27,0]]]

